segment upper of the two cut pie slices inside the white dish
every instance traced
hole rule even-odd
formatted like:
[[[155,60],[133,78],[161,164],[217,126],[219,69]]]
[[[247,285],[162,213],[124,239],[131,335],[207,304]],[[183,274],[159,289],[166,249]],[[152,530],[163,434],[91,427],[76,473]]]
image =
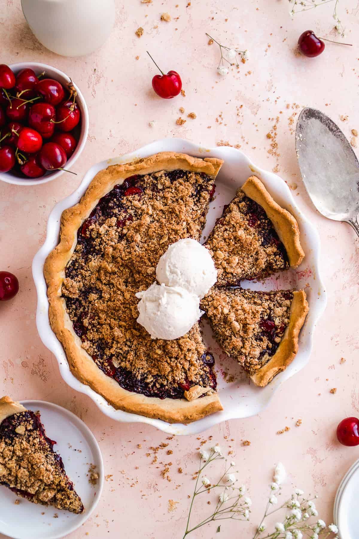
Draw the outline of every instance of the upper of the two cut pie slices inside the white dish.
[[[224,208],[206,247],[218,271],[218,286],[268,277],[299,266],[304,257],[297,221],[256,176],[248,178]]]

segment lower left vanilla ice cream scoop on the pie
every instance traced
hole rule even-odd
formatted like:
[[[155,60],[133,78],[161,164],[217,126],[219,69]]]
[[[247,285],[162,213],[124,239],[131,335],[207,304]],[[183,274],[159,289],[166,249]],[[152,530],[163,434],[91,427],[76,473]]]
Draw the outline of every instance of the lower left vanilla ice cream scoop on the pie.
[[[185,335],[203,314],[200,299],[184,288],[153,283],[147,290],[137,292],[137,322],[151,338],[171,340]]]

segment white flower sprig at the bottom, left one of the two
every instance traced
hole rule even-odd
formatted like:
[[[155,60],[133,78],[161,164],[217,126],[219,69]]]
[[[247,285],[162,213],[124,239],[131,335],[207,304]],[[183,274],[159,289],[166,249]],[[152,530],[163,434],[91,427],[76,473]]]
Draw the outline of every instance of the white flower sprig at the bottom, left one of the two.
[[[203,476],[203,471],[215,460],[224,460],[226,466],[224,472],[215,484],[211,484],[211,481],[207,476]],[[184,535],[185,537],[201,526],[212,522],[213,520],[249,520],[250,506],[252,501],[249,497],[243,497],[245,493],[245,486],[241,485],[240,487],[235,486],[237,478],[235,473],[233,473],[233,468],[235,462],[231,462],[230,465],[227,465],[227,459],[224,459],[222,456],[221,448],[217,444],[211,448],[210,451],[201,450],[200,451],[200,468],[197,472],[196,484],[194,487],[194,493],[192,496],[191,506],[189,507],[189,514],[187,519],[187,526]],[[196,526],[190,527],[189,520],[191,519],[191,512],[193,508],[194,500],[200,494],[208,492],[214,488],[222,488],[217,501],[217,505],[214,509],[214,512],[207,516]]]

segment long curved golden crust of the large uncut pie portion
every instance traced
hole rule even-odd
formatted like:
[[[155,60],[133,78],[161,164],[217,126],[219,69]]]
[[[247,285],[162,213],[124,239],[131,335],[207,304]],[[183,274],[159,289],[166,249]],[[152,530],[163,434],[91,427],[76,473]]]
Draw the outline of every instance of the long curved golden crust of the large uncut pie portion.
[[[210,413],[222,410],[217,393],[193,400],[159,399],[146,397],[123,389],[114,379],[102,372],[91,356],[81,348],[81,339],[74,330],[66,311],[65,299],[61,296],[65,268],[77,243],[77,232],[88,218],[101,197],[134,174],[152,174],[161,170],[182,169],[203,172],[216,177],[223,161],[216,158],[195,158],[186,154],[163,152],[133,163],[112,165],[96,174],[80,202],[62,213],[60,243],[48,255],[44,274],[48,285],[49,318],[52,329],[64,346],[69,367],[73,375],[83,384],[89,385],[116,409],[159,418],[170,423],[189,423]]]

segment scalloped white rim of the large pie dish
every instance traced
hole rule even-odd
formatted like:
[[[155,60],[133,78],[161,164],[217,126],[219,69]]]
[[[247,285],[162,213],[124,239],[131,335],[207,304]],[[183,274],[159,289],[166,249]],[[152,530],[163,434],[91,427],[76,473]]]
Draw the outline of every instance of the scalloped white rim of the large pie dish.
[[[173,147],[177,145],[178,145],[178,148],[173,149]],[[185,147],[185,149],[179,149],[183,147]],[[169,148],[171,148],[171,150]],[[295,373],[291,371],[290,368],[287,368],[285,371],[281,372],[281,374],[278,375],[271,382],[271,395],[268,398],[267,402],[264,405],[258,405],[258,407],[255,410],[253,409],[249,413],[243,413],[241,416],[238,416],[238,414],[231,413],[230,408],[227,406],[225,410],[221,412],[216,412],[210,416],[194,421],[194,423],[189,423],[186,425],[170,424],[170,423],[166,423],[166,421],[163,421],[161,419],[152,419],[145,416],[139,416],[138,414],[124,412],[122,410],[115,410],[111,405],[107,403],[107,401],[103,397],[101,397],[94,390],[89,388],[89,386],[81,383],[69,370],[65,351],[62,348],[62,345],[60,341],[58,340],[57,336],[53,333],[53,330],[50,326],[50,322],[48,320],[47,285],[44,278],[43,267],[44,267],[44,262],[48,253],[50,253],[53,247],[58,244],[59,231],[60,231],[60,217],[61,217],[62,211],[64,211],[64,209],[69,208],[73,206],[74,204],[76,204],[77,202],[79,202],[81,196],[87,189],[87,186],[89,185],[91,179],[94,177],[94,174],[96,174],[98,170],[102,170],[103,168],[108,167],[108,165],[110,164],[131,162],[138,158],[155,154],[159,151],[185,151],[185,153],[188,153],[189,155],[191,154],[201,155],[202,157],[216,156],[216,154],[217,156],[223,157],[223,154],[236,152],[238,154],[241,154],[242,158],[244,158],[247,161],[248,166],[252,172],[257,171],[258,174],[269,175],[272,178],[276,178],[276,181],[279,181],[281,186],[285,190],[288,204],[292,206],[295,216],[297,216],[297,218],[300,219],[301,226],[305,228],[306,233],[311,234],[311,237],[312,237],[311,250],[313,252],[313,259],[314,259],[313,265],[315,268],[315,281],[318,284],[318,288],[321,291],[320,295],[318,295],[318,298],[316,298],[315,302],[313,301],[314,305],[310,306],[311,307],[311,326],[310,326],[311,329],[308,331],[308,340],[307,340],[307,347],[306,347],[307,354],[304,358],[304,361],[302,362],[301,365],[298,365],[299,368],[295,370],[295,372],[298,372],[299,370],[304,368],[305,365],[309,361],[309,356],[311,355],[311,351],[313,347],[314,328],[320,316],[324,312],[326,308],[326,304],[327,304],[327,294],[326,294],[325,287],[320,277],[320,268],[319,268],[320,238],[319,238],[318,231],[309,222],[309,220],[302,214],[297,204],[295,204],[293,195],[290,189],[288,188],[287,184],[277,174],[274,174],[274,172],[269,172],[260,167],[257,167],[241,150],[238,150],[232,147],[203,148],[202,145],[195,144],[191,141],[179,139],[179,138],[173,138],[173,139],[167,138],[167,139],[157,140],[152,143],[146,144],[145,146],[129,154],[124,154],[119,158],[110,158],[109,160],[101,161],[100,163],[93,165],[93,167],[91,167],[87,171],[85,176],[83,177],[82,182],[78,186],[78,188],[71,195],[69,195],[62,201],[58,202],[54,206],[48,218],[47,235],[46,235],[45,243],[40,248],[40,250],[36,253],[33,259],[32,273],[33,273],[33,279],[36,285],[37,295],[38,295],[38,305],[37,305],[37,315],[36,315],[37,329],[38,329],[40,338],[45,344],[45,346],[52,351],[55,357],[57,357],[62,378],[64,378],[65,382],[76,391],[80,391],[88,395],[95,402],[95,404],[97,404],[97,406],[105,415],[107,415],[108,417],[116,421],[121,421],[123,423],[147,423],[147,424],[153,425],[157,429],[163,432],[166,432],[168,434],[175,434],[175,435],[197,434],[197,433],[200,433],[209,429],[210,427],[216,424],[222,423],[222,421],[226,421],[229,419],[251,417],[263,411],[265,407],[268,406],[269,402],[274,396],[274,393],[276,393],[280,385],[283,384],[286,381],[286,379],[290,378]]]

